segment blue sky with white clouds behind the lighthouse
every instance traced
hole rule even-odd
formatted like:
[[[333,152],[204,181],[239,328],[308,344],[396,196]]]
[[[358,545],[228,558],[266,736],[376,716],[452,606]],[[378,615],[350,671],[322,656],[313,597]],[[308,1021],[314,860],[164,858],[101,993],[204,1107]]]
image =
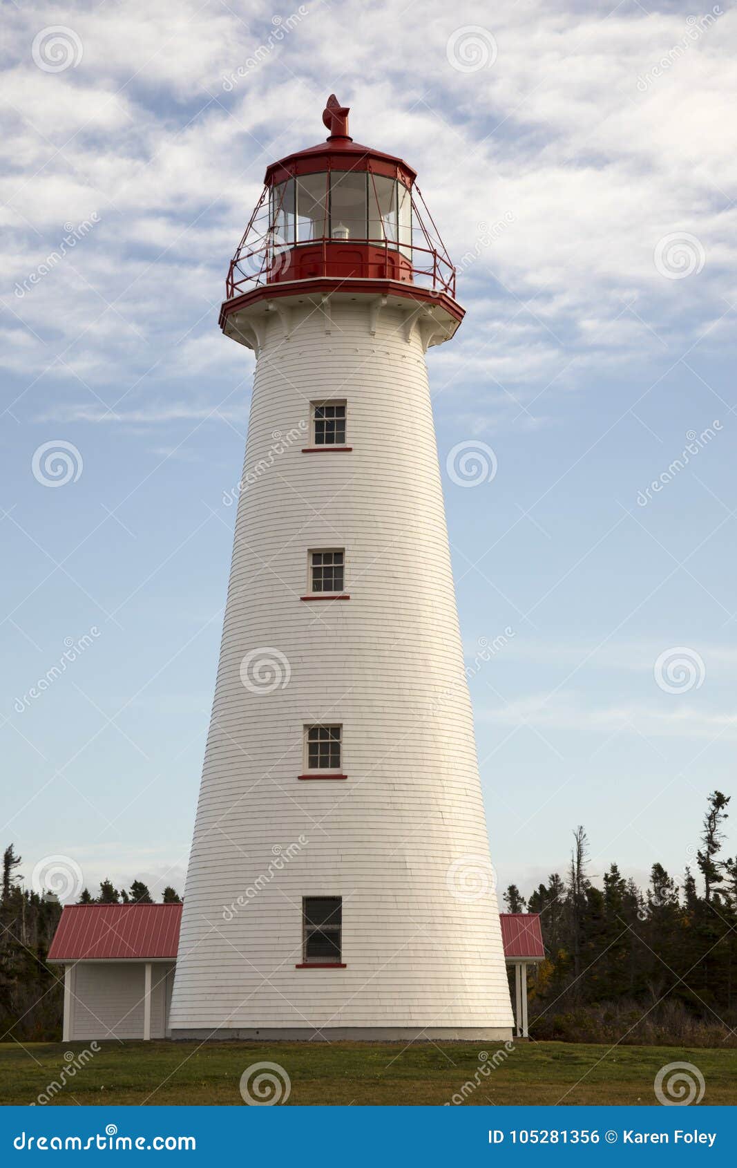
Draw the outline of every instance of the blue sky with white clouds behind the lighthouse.
[[[0,844],[183,889],[253,369],[218,308],[336,92],[459,267],[427,363],[499,883],[578,823],[595,878],[681,878],[737,742],[737,16],[291,2],[5,9]]]

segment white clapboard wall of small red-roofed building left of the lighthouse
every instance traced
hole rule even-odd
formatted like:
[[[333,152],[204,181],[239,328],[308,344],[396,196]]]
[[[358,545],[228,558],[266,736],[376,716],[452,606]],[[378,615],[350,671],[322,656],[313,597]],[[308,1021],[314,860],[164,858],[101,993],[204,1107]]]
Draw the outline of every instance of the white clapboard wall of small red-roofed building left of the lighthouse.
[[[151,1037],[164,1038],[174,962],[154,961]],[[70,1038],[144,1037],[142,961],[77,961],[74,967]]]

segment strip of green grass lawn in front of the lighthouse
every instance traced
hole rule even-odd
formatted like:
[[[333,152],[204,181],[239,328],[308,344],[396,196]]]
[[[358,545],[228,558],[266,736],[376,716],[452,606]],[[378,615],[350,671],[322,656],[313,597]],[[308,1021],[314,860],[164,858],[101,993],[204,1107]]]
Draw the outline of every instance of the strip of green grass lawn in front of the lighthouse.
[[[653,1080],[686,1062],[705,1079],[704,1104],[737,1103],[737,1049],[617,1047],[561,1042],[447,1043],[104,1042],[54,1104],[220,1104],[243,1106],[241,1076],[278,1063],[291,1079],[288,1106],[310,1104],[655,1104]],[[0,1104],[29,1104],[58,1083],[83,1043],[0,1044]],[[487,1058],[479,1058],[486,1051]],[[487,1066],[488,1073],[480,1068]],[[472,1090],[464,1084],[472,1084]]]

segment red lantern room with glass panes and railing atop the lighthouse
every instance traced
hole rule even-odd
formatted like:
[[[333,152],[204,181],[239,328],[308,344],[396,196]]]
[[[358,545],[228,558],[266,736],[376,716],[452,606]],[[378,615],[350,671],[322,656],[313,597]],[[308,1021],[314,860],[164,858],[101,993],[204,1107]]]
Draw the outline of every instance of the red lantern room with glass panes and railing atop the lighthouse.
[[[348,112],[332,95],[322,113],[327,140],[267,167],[230,263],[225,332],[232,313],[264,294],[294,293],[294,285],[322,294],[403,294],[441,305],[454,326],[463,319],[456,270],[416,172],[401,158],[354,142]]]

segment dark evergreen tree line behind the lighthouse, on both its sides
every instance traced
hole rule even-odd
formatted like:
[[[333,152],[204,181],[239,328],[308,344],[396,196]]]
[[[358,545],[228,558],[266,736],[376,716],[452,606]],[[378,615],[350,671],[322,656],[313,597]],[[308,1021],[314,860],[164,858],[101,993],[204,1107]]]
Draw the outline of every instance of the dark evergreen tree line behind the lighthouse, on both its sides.
[[[528,978],[530,1035],[572,1042],[737,1044],[737,856],[723,855],[730,797],[709,795],[690,865],[661,863],[647,888],[611,863],[591,874],[583,827],[564,875],[526,898],[515,884],[509,912],[538,912],[545,960]],[[58,1040],[63,987],[47,954],[61,916],[54,897],[22,887],[13,844],[2,863],[0,1042]],[[595,883],[597,880],[597,883]],[[166,888],[164,903],[179,903]],[[116,889],[104,880],[79,904],[153,904],[142,881]],[[461,958],[459,958],[460,960]]]

